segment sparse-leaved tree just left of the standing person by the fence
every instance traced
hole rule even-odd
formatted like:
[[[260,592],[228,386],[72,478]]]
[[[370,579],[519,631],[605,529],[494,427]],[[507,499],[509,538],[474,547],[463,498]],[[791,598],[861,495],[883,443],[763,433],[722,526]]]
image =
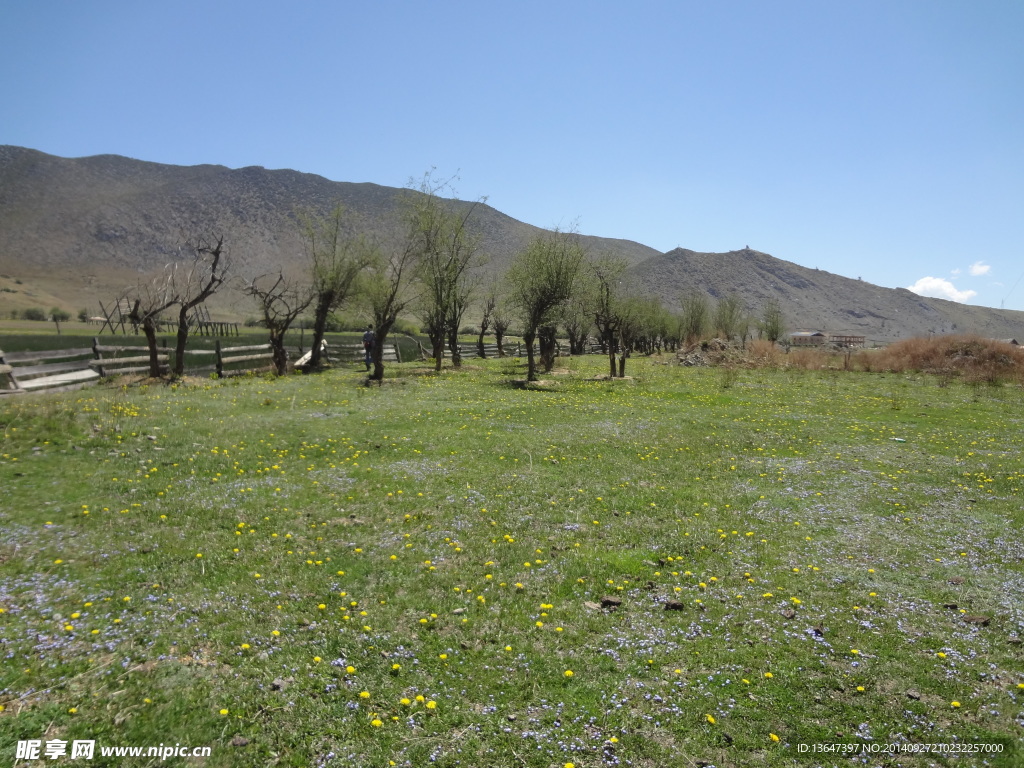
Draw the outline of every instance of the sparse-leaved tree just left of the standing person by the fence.
[[[361,238],[346,230],[345,209],[340,203],[327,215],[301,213],[299,221],[314,296],[309,369],[316,371],[323,367],[328,317],[355,291],[359,274],[370,261],[370,249]]]

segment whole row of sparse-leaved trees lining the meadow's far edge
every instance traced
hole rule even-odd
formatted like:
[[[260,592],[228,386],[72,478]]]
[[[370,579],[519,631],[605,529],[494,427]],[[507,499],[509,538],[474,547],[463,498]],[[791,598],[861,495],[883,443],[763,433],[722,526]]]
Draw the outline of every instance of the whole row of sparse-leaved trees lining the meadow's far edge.
[[[745,339],[752,328],[772,341],[781,335],[781,312],[774,303],[752,318],[734,297],[711,306],[694,293],[683,299],[681,311],[670,312],[656,298],[643,297],[630,285],[624,259],[588,258],[574,230],[540,233],[513,258],[504,279],[485,288],[480,267],[486,255],[471,226],[483,199],[459,201],[451,179],[437,180],[427,173],[419,184],[410,184],[398,202],[402,228],[389,240],[358,233],[340,206],[328,214],[300,215],[306,273],[278,272],[244,282],[244,291],[257,303],[269,333],[280,374],[288,371],[285,336],[310,312],[309,369],[323,366],[323,342],[332,314],[355,311],[374,326],[370,376],[377,381],[384,376],[387,337],[399,316],[408,314],[422,323],[436,370],[441,369],[445,347],[453,366],[461,366],[459,330],[474,304],[480,312],[478,353],[483,355],[488,331],[501,350],[508,329],[517,324],[526,346],[529,380],[554,365],[559,329],[574,354],[585,351],[588,338],[596,336],[608,355],[612,377],[625,376],[626,361],[635,351],[675,348],[712,330],[725,338]],[[159,375],[158,315],[172,307],[177,311],[173,374],[180,376],[189,312],[224,286],[228,276],[222,237],[188,243],[186,253],[188,258],[168,265],[160,279],[140,286],[133,297],[131,317],[145,333],[154,375]]]

